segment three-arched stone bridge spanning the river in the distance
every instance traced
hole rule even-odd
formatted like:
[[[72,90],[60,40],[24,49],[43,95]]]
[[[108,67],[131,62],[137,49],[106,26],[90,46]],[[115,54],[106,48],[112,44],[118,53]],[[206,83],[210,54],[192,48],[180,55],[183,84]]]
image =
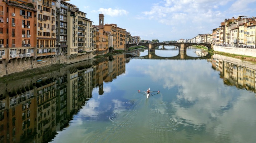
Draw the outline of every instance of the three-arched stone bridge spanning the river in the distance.
[[[149,48],[149,51],[155,51],[155,47],[157,46],[165,46],[165,45],[173,45],[179,48],[180,51],[186,51],[187,47],[193,45],[201,45],[208,48],[208,50],[212,49],[213,45],[208,43],[137,43],[137,44],[126,44],[126,48],[135,47],[135,46],[146,46]]]

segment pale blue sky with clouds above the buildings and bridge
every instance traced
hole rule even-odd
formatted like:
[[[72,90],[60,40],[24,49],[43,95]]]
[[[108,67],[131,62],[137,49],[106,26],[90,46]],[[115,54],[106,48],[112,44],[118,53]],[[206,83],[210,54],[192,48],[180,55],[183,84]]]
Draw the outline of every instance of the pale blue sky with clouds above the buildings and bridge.
[[[99,25],[116,24],[131,36],[161,41],[191,39],[212,33],[225,19],[256,17],[256,0],[71,0]]]

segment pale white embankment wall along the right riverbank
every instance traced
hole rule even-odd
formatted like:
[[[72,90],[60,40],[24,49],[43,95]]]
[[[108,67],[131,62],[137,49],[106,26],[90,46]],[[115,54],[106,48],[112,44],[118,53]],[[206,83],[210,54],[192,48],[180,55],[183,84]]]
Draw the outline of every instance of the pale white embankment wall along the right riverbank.
[[[236,48],[236,47],[223,47],[223,46],[214,45],[213,49],[214,51],[256,57],[256,49],[253,49],[253,48]]]

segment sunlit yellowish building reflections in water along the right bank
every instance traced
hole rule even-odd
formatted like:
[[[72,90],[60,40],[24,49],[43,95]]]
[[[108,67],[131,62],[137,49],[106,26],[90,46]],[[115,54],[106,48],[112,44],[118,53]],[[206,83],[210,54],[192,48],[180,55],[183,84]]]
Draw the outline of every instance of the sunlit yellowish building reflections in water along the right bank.
[[[232,61],[232,59],[212,58],[209,61],[212,63],[212,68],[220,72],[219,75],[223,79],[224,84],[255,93],[256,67],[247,64],[238,65],[239,62]]]

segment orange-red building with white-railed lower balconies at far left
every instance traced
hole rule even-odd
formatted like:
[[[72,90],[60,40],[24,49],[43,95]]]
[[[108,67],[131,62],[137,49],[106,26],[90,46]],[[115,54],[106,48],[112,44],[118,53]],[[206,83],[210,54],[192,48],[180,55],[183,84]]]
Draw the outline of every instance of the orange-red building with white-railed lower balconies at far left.
[[[0,1],[0,61],[15,63],[35,56],[36,12],[29,0]]]

